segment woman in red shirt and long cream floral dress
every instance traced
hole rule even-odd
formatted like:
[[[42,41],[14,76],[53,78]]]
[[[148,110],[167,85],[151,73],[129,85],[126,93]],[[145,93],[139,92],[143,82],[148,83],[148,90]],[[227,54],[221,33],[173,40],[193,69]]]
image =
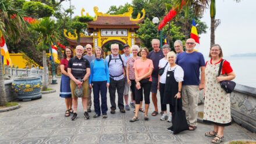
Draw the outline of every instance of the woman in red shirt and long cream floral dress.
[[[212,143],[221,143],[224,140],[224,127],[231,124],[230,94],[221,88],[221,81],[233,80],[236,75],[226,60],[223,61],[221,75],[218,76],[222,62],[222,49],[218,44],[212,45],[205,67],[204,88],[204,122],[214,124],[214,130],[206,132],[205,136],[214,136]]]

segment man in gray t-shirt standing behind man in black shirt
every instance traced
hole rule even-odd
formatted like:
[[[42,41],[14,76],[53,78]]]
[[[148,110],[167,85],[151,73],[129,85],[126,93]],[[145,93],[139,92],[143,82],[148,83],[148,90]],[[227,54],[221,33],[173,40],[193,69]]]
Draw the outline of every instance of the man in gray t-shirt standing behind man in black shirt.
[[[86,58],[91,63],[91,61],[93,61],[95,59],[95,56],[93,55],[93,46],[91,46],[90,44],[87,44],[86,52],[87,52],[87,55],[85,55],[83,57]],[[90,113],[91,112],[91,88],[89,88],[89,96],[88,96],[88,100],[87,100],[87,106],[88,106],[87,111]]]

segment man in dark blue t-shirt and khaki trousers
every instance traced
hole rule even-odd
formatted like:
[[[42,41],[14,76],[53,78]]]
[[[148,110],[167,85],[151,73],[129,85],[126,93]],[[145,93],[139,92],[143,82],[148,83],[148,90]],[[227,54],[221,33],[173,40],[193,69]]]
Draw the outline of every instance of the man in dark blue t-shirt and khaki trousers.
[[[182,82],[182,108],[186,111],[189,130],[197,128],[197,100],[199,91],[204,89],[205,60],[200,52],[194,51],[195,40],[189,38],[186,41],[186,52],[177,55],[176,64],[184,70]],[[201,80],[200,77],[201,70]]]

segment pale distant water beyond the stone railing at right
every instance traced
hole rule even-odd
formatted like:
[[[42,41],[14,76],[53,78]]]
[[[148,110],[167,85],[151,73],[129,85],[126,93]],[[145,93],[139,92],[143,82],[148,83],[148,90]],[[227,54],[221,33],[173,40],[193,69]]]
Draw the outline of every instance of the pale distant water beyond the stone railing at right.
[[[256,88],[256,57],[229,56],[223,57],[223,59],[230,63],[234,73],[236,73],[234,81],[237,84]],[[206,60],[209,60],[209,58],[205,57]]]

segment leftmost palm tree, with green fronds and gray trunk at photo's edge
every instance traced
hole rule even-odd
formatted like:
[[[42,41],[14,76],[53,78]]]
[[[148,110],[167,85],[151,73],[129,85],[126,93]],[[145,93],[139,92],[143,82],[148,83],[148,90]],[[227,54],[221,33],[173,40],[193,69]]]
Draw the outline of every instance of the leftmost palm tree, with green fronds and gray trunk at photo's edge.
[[[14,9],[13,1],[0,0],[0,34],[6,39],[15,42],[20,40],[20,36],[27,28],[27,23],[23,19],[24,12]],[[1,40],[0,40],[1,41]],[[2,58],[2,57],[1,57]],[[3,79],[3,64],[0,58],[0,106],[4,106],[6,101],[5,82]]]

